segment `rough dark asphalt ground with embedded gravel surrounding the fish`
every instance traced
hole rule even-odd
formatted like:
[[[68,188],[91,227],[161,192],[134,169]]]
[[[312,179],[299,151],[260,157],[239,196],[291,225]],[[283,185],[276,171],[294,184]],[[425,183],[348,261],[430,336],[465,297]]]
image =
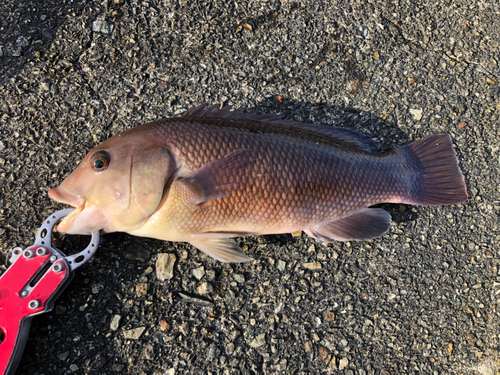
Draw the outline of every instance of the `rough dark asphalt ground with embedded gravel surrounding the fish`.
[[[88,150],[203,102],[345,126],[383,149],[449,133],[470,197],[381,205],[392,227],[367,242],[240,238],[255,259],[244,264],[103,235],[54,311],[33,319],[17,373],[500,371],[497,7],[1,2],[0,269],[62,208],[46,193]]]

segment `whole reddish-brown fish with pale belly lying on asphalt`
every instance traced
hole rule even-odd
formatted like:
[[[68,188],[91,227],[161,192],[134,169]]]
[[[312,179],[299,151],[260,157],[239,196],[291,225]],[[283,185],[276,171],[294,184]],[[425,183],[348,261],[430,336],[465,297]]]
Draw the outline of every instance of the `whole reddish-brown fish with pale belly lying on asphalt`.
[[[382,152],[351,129],[205,104],[107,139],[48,195],[75,208],[59,232],[188,242],[221,262],[252,260],[235,237],[370,240],[391,226],[373,205],[468,198],[448,134]]]

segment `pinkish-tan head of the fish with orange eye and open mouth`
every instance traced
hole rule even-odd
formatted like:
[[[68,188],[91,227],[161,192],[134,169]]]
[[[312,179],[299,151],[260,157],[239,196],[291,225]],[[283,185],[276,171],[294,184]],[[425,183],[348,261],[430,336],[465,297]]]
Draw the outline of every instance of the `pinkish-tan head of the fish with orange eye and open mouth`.
[[[158,133],[131,129],[91,150],[49,197],[75,207],[57,226],[70,234],[126,232],[160,206],[176,170]]]

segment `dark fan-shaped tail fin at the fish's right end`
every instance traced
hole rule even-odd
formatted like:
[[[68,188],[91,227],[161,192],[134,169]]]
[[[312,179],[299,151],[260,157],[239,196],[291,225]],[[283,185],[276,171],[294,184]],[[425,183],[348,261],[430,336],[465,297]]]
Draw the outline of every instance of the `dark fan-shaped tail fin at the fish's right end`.
[[[419,175],[410,199],[404,203],[441,206],[465,202],[467,189],[448,134],[435,134],[396,151]]]

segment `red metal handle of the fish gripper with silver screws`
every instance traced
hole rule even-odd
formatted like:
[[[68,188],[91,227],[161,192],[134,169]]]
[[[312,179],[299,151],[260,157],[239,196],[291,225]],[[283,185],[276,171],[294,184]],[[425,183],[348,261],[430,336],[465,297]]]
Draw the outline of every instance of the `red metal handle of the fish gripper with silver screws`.
[[[53,249],[14,250],[13,264],[0,276],[0,374],[13,374],[28,338],[31,318],[50,311],[73,272]],[[17,251],[17,254],[16,254]]]

